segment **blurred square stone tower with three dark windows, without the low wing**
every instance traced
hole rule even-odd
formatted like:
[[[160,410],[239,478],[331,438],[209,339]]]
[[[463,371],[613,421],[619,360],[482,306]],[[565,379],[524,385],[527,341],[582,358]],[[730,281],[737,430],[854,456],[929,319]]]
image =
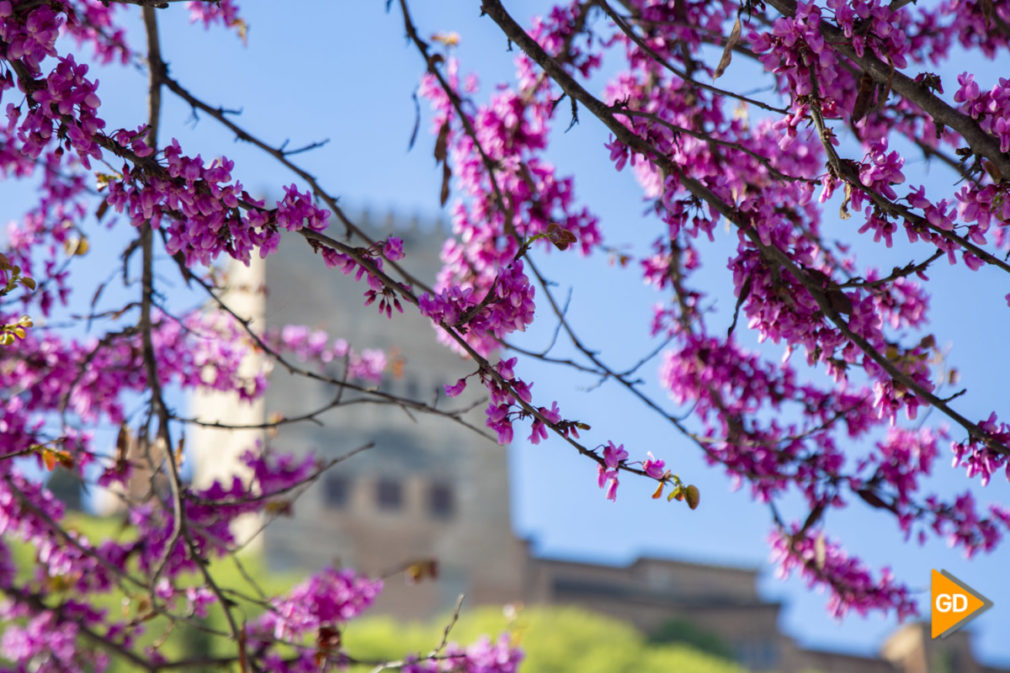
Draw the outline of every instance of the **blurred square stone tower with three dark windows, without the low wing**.
[[[426,284],[434,283],[445,238],[439,226],[405,226],[391,218],[377,226],[367,217],[362,225],[377,239],[390,233],[403,238],[403,266]],[[331,340],[344,339],[359,352],[381,349],[402,363],[387,368],[381,390],[427,403],[437,398],[438,408],[475,406],[467,418],[484,427],[483,406],[476,404],[479,396],[447,399],[441,391],[445,383],[473,371],[472,364],[439,345],[430,322],[416,310],[408,306],[404,314],[389,319],[377,305],[365,306],[367,285],[327,269],[298,236],[282,239],[265,266],[265,302],[257,303],[256,297],[263,295],[256,292],[241,298],[241,292],[258,287],[255,278],[239,277],[232,291],[248,304],[243,314],[257,320],[265,315],[268,327],[324,329]],[[342,363],[331,363],[328,373],[339,378]],[[291,417],[325,407],[339,392],[335,385],[276,367],[259,406],[205,397],[197,400],[195,411],[206,420],[257,422],[254,416]],[[345,401],[361,396],[351,391],[342,395]],[[263,547],[272,568],[313,570],[335,563],[388,576],[376,609],[400,617],[443,611],[461,593],[467,595],[468,605],[521,598],[526,549],[512,533],[504,447],[450,419],[396,405],[352,403],[317,420],[282,425],[269,437],[254,437],[256,431],[249,430],[245,437],[227,438],[202,428],[193,445],[200,456],[196,479],[201,483],[232,469],[238,453],[257,439],[271,449],[311,451],[323,459],[374,443],[302,494],[292,517],[266,528]],[[406,580],[404,568],[428,560],[437,563],[434,581]]]

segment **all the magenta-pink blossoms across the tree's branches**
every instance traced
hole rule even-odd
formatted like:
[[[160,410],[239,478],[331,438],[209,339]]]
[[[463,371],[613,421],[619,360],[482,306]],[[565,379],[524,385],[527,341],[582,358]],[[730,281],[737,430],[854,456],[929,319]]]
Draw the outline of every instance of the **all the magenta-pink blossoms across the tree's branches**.
[[[908,537],[943,538],[969,556],[1002,543],[1010,511],[981,502],[979,491],[927,493],[924,477],[944,454],[982,486],[1003,471],[1010,477],[1010,426],[995,412],[971,421],[955,411],[957,395],[942,390],[950,380],[940,376],[939,338],[927,333],[935,261],[1006,272],[1010,80],[986,90],[966,72],[956,87],[947,83],[947,100],[942,78],[928,72],[958,44],[988,57],[1005,52],[1006,3],[766,0],[741,12],[732,0],[627,0],[627,20],[611,23],[597,20],[601,7],[571,0],[532,21],[527,35],[540,58],[527,43],[514,84],[484,99],[476,76],[461,75],[454,40],[438,40],[445,54],[422,46],[428,68],[419,92],[433,111],[452,236],[433,290],[420,296],[396,280],[405,257],[396,236],[356,245],[326,234],[330,210],[321,203],[333,201],[314,181],[287,185],[268,204],[242,186],[226,157],[205,160],[178,139],[159,143],[156,124],[110,126],[80,51],[87,45],[105,65],[142,59],[126,42],[131,10],[124,4],[0,0],[0,176],[33,180],[38,194],[7,229],[0,324],[26,324],[21,315],[49,317],[70,303],[69,268],[89,250],[91,213],[97,221],[118,213],[104,220],[108,226],[132,225],[125,231],[134,247],[122,255],[127,281],[141,242],[148,246],[144,264],[154,265],[152,237],[158,253],[174,258],[168,264],[203,281],[213,280],[204,268],[222,257],[249,263],[296,232],[326,266],[362,283],[366,305],[392,318],[416,301],[439,340],[477,361],[474,374],[445,392],[459,395],[476,377],[490,396],[486,423],[499,442],[512,442],[517,423],[528,423],[530,443],[554,434],[594,460],[604,497],[615,499],[620,480],[637,474],[656,482],[653,497],[673,485],[672,497],[687,493],[694,507],[697,489],[683,488],[669,459],[632,458],[633,448],[616,440],[578,444],[589,425],[566,418],[556,400],[535,399],[533,382],[517,373],[518,358],[499,357],[551,291],[541,260],[604,250],[603,223],[576,198],[574,178],[548,160],[552,133],[591,111],[613,132],[602,157],[617,171],[630,167],[658,223],[642,250],[613,250],[661,298],[642,328],[667,340],[659,382],[689,411],[664,416],[709,463],[747,484],[755,500],[799,495],[791,501],[809,510],[802,524],[776,514],[771,545],[780,570],[827,587],[837,615],[880,609],[904,617],[915,609],[908,590],[825,537],[827,509],[861,502],[893,516]],[[232,0],[188,2],[186,9],[191,21],[245,37]],[[71,43],[76,54],[67,51]],[[712,46],[724,52],[718,67],[708,63]],[[543,58],[594,85],[604,63],[616,67],[607,69],[597,104],[588,105],[585,93],[536,65]],[[756,94],[716,86],[733,59],[749,60],[770,86]],[[957,186],[917,184],[919,152],[939,157]],[[828,212],[833,203],[837,218]],[[892,248],[901,230],[925,261],[887,272],[852,252],[849,239]],[[708,245],[717,237],[728,252],[712,265]],[[731,316],[712,310],[723,302],[699,274],[703,265],[728,271]],[[19,285],[18,278],[37,284]],[[96,308],[102,289],[86,318],[102,325],[101,335],[74,338],[37,321],[0,351],[0,649],[15,670],[101,671],[109,664],[102,642],[164,663],[137,640],[148,617],[185,621],[230,609],[213,586],[194,585],[192,577],[206,571],[207,560],[233,552],[231,524],[239,516],[289,506],[288,494],[322,468],[311,456],[250,447],[242,457],[245,479],[203,488],[173,482],[171,494],[152,479],[150,497],[129,509],[127,535],[89,541],[68,528],[63,505],[27,476],[25,463],[42,472],[60,466],[85,481],[100,474],[99,484],[125,492],[143,467],[127,450],[133,428],[148,463],[171,474],[182,458],[181,446],[166,446],[184,429],[165,402],[166,387],[260,398],[267,371],[247,373],[241,365],[263,345],[322,370],[343,363],[348,378],[370,383],[387,367],[383,351],[354,350],[303,325],[256,335],[223,315],[174,315],[148,287],[139,301],[103,312]],[[588,369],[645,394],[585,353]],[[136,412],[138,399],[146,413]],[[954,426],[929,417],[908,427],[930,408]],[[95,439],[103,425],[120,426],[114,455]],[[13,541],[36,551],[27,580],[14,567]],[[123,585],[144,590],[143,601],[127,606],[131,613],[99,607],[101,595]],[[323,570],[290,594],[262,601],[264,612],[234,634],[244,641],[236,662],[244,668],[251,656],[257,666],[282,671],[345,665],[339,630],[380,590],[379,581]],[[401,668],[511,673],[519,659],[503,639],[448,646]]]

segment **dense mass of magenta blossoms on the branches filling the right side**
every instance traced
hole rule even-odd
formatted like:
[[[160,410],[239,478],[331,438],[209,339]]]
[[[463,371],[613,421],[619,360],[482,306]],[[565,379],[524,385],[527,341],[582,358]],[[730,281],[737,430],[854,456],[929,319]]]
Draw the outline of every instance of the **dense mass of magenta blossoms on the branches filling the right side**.
[[[928,407],[926,396],[938,390],[933,336],[901,343],[905,330],[928,323],[927,265],[895,267],[890,275],[860,269],[849,246],[833,244],[823,232],[819,204],[843,187],[840,214],[842,219],[855,214],[852,231],[890,248],[903,228],[910,243],[927,244],[927,254],[935,250],[950,264],[960,259],[972,270],[997,265],[984,247],[991,239],[999,248],[1008,245],[1004,177],[982,160],[985,171],[956,194],[937,198],[920,186],[903,192],[908,154],[898,149],[899,140],[911,139],[927,157],[931,151],[961,154],[963,129],[937,123],[921,103],[904,92],[895,95],[869,72],[861,75],[853,63],[876,59],[900,72],[942,62],[955,41],[986,42],[983,51],[991,56],[1006,35],[973,36],[984,12],[970,3],[896,8],[877,0],[827,0],[799,2],[790,11],[772,4],[779,16],[749,20],[725,3],[686,3],[673,16],[662,3],[632,2],[628,10],[642,21],[638,38],[627,26],[614,25],[609,41],[603,40],[619,45],[627,64],[609,81],[604,102],[614,119],[654,153],[632,151],[623,137],[606,145],[617,170],[631,166],[650,209],[666,224],[639,261],[644,281],[670,296],[658,304],[651,323],[652,333],[672,344],[663,355],[660,380],[673,401],[691,411],[698,426],[691,437],[706,458],[723,466],[734,482],[749,483],[759,500],[798,489],[812,512],[863,501],[892,512],[906,534],[914,528],[920,539],[930,533],[946,537],[967,554],[991,550],[1006,531],[1004,512],[997,507],[983,515],[964,495],[947,502],[923,494],[921,476],[939,453],[937,442],[947,440],[955,465],[988,482],[1008,453],[995,416],[976,423],[984,437],[972,429],[968,441],[942,429],[916,434],[898,426],[902,416],[915,418]],[[985,20],[1005,10],[994,12]],[[733,20],[742,23],[740,33],[772,74],[783,104],[766,107],[770,114],[754,119],[751,104],[764,103],[691,79],[699,69],[714,73],[701,56],[707,41],[701,26],[724,35]],[[919,74],[915,82],[927,96],[943,92],[940,78],[931,73]],[[1010,84],[1001,80],[984,92],[970,74],[958,84],[953,100],[961,111],[1002,143]],[[731,115],[730,103],[736,106]],[[846,153],[853,143],[842,143],[838,121],[850,124],[862,146],[850,158]],[[705,195],[688,181],[703,187]],[[819,201],[812,198],[816,183],[824,187]],[[733,225],[737,239],[727,265],[737,296],[728,338],[708,324],[711,315],[702,308],[707,294],[692,283],[704,259],[697,239],[713,239],[727,211],[735,215],[727,217],[727,226]],[[742,325],[759,343],[781,345],[782,360],[767,358],[775,352],[767,348],[742,349],[737,343]],[[793,364],[796,351],[805,354],[805,368]],[[811,368],[833,385],[810,376]],[[875,443],[880,437],[885,439]],[[868,443],[864,458],[848,458],[857,455],[851,445]],[[600,467],[601,486],[615,484],[612,462]],[[839,483],[845,487],[837,488]],[[777,535],[781,564],[813,553],[813,538],[786,545],[782,540],[789,536]],[[831,549],[835,553],[828,557],[837,561],[837,572],[822,568],[808,577],[833,587],[834,611],[848,606],[905,615],[914,610],[896,583],[893,591],[858,589],[871,581],[869,575],[853,570],[840,548]],[[888,577],[889,586],[893,581]],[[846,586],[852,590],[846,592]]]

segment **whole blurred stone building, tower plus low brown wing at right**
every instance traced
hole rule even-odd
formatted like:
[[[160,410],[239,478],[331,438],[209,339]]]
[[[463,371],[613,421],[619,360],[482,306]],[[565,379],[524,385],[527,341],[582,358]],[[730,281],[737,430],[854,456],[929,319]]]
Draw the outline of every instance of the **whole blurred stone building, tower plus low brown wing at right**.
[[[431,285],[439,268],[444,231],[436,224],[396,224],[391,218],[362,225],[383,238],[404,239],[405,267]],[[448,400],[442,386],[473,371],[469,362],[438,345],[426,319],[407,310],[392,321],[364,306],[363,283],[327,270],[297,237],[282,242],[265,265],[234,272],[231,298],[254,325],[304,324],[342,338],[356,350],[382,349],[396,364],[378,389],[423,399],[483,427],[483,405],[471,390]],[[265,273],[265,276],[264,276]],[[263,363],[251,363],[259,367]],[[254,367],[255,369],[255,367]],[[340,378],[343,363],[327,374]],[[480,386],[471,386],[471,389]],[[361,396],[332,384],[307,380],[275,367],[266,399],[256,406],[205,395],[194,413],[206,420],[256,424],[265,418],[311,412]],[[782,673],[996,673],[972,656],[969,637],[957,633],[933,643],[920,626],[893,635],[881,658],[800,648],[779,631],[780,603],[763,600],[758,571],[642,558],[604,566],[536,558],[511,524],[509,472],[504,447],[481,439],[444,417],[396,404],[358,401],[320,413],[311,421],[242,435],[202,428],[194,438],[196,476],[207,483],[236,470],[236,457],[257,442],[283,451],[312,451],[336,458],[369,443],[374,447],[329,470],[302,494],[293,515],[268,526],[262,547],[277,570],[312,570],[336,563],[387,576],[375,611],[422,618],[450,609],[461,593],[481,603],[572,604],[618,617],[646,634],[676,621],[717,637],[750,671]],[[240,468],[238,471],[241,472]],[[262,521],[250,522],[246,536]],[[437,577],[426,574],[430,561]],[[407,572],[404,572],[404,571]]]

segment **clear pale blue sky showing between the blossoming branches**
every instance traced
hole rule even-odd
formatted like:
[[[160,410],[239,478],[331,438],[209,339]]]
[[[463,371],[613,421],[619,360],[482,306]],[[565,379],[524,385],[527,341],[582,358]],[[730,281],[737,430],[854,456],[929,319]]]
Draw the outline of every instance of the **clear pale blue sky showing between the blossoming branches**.
[[[529,0],[506,4],[523,20],[544,6]],[[480,73],[484,92],[511,77],[512,55],[506,53],[506,42],[490,20],[480,18],[479,2],[440,0],[414,5],[422,34],[441,30],[462,34],[463,67]],[[246,2],[242,10],[250,26],[247,49],[230,32],[190,28],[183,7],[174,6],[159,13],[163,52],[175,77],[212,103],[242,108],[241,123],[269,141],[290,139],[297,147],[329,138],[324,148],[298,161],[351,209],[369,206],[436,216],[440,176],[433,166],[426,119],[415,149],[406,151],[414,122],[411,92],[422,63],[404,39],[396,8],[386,14],[384,6],[382,0]],[[1005,74],[1008,65],[1004,62],[990,72],[993,77]],[[734,77],[736,67],[730,68],[727,77]],[[119,110],[111,114],[111,123],[134,127],[144,118],[142,75],[103,71],[100,78],[99,95],[106,111]],[[952,77],[949,82],[948,93]],[[552,160],[563,174],[578,169],[577,194],[601,216],[608,243],[642,250],[656,227],[640,214],[640,190],[630,174],[615,174],[611,169],[602,148],[605,131],[588,114],[568,133],[561,132],[564,125],[558,129]],[[233,142],[212,119],[204,116],[193,123],[189,109],[169,95],[162,137],[171,136],[205,158],[224,154],[235,160],[236,177],[254,190],[294,180],[249,146]],[[907,172],[913,170],[910,167]],[[942,171],[934,173],[937,184],[949,184]],[[0,196],[5,192],[0,191]],[[4,218],[16,216],[4,210],[0,213]],[[829,212],[827,217],[831,216]],[[853,222],[830,225],[837,227],[838,236],[852,237],[857,226]],[[706,283],[704,289],[724,309],[730,301],[723,269],[728,250],[725,244],[712,246],[713,255],[706,258],[707,267],[700,276]],[[912,259],[901,249],[890,256],[874,254],[884,269]],[[916,259],[922,257],[920,251]],[[618,368],[627,366],[649,350],[649,307],[659,297],[641,284],[636,271],[615,272],[603,258],[553,255],[549,262],[548,275],[553,280],[566,290],[575,286],[571,312],[575,324],[592,347],[613,354],[609,362]],[[1010,378],[1010,367],[1005,336],[1010,313],[1002,300],[1005,279],[987,272],[966,276],[963,270],[950,273],[946,269],[938,270],[935,277],[939,290],[933,295],[933,317],[938,342],[950,345],[951,362],[971,390],[957,401],[960,408],[973,417],[991,408],[1007,409],[1004,382]],[[542,347],[550,328],[544,321],[524,335],[523,344]],[[518,442],[512,454],[515,525],[520,535],[535,538],[540,553],[613,563],[639,554],[670,555],[762,567],[766,570],[764,595],[787,605],[782,629],[807,646],[873,653],[894,627],[893,620],[855,615],[835,621],[824,610],[823,594],[808,591],[797,579],[775,580],[768,563],[767,509],[753,504],[745,491],[731,492],[721,471],[704,466],[697,450],[620,390],[603,386],[588,394],[584,389],[592,380],[534,366],[524,366],[520,374],[537,382],[538,400],[557,398],[566,415],[592,422],[591,442],[618,440],[633,447],[636,455],[650,450],[698,484],[703,496],[702,506],[691,512],[652,501],[644,484],[626,480],[618,501],[610,503],[596,488],[592,464],[558,443],[531,447]],[[655,368],[646,368],[643,375],[654,381]],[[651,392],[665,399],[654,384]],[[949,472],[945,459],[938,463],[941,473]],[[948,491],[963,488],[967,481],[951,473],[935,483]],[[997,478],[987,490],[980,489],[978,497],[1006,502],[1008,494],[1006,480]],[[1006,578],[1010,546],[969,562],[942,543],[902,544],[892,520],[858,506],[833,513],[828,523],[851,551],[875,566],[892,565],[900,577],[921,588],[923,608],[928,603],[930,568],[945,568],[986,593],[995,607],[975,622],[976,652],[986,661],[1010,664],[1010,640],[1005,637],[1010,627]]]

